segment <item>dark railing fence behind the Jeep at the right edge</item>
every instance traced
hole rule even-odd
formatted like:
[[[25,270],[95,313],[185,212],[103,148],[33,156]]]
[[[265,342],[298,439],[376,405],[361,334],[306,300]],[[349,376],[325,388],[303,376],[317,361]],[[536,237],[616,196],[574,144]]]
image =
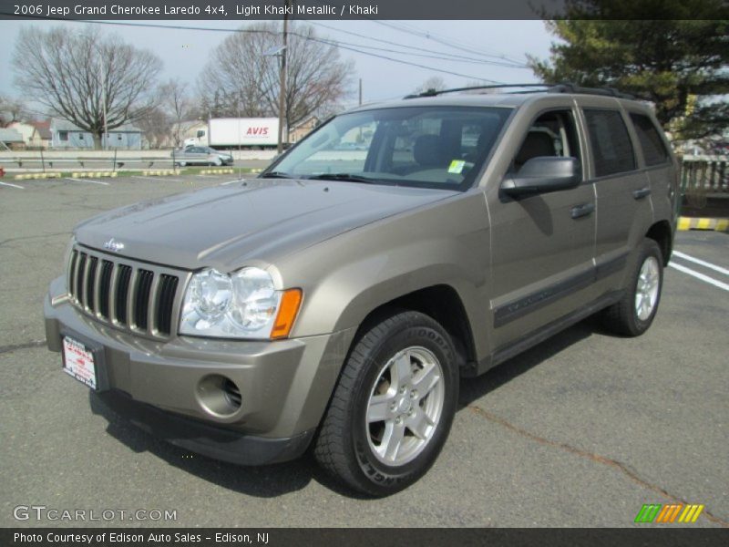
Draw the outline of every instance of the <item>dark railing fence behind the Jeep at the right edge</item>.
[[[687,204],[703,208],[712,196],[729,196],[729,157],[683,156],[681,194]]]

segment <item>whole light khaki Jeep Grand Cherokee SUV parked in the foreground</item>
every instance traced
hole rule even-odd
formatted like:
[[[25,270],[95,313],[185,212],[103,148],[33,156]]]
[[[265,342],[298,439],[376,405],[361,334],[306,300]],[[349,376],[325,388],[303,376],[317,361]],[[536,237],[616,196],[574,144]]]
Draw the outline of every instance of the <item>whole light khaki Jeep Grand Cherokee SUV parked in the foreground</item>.
[[[459,377],[601,312],[652,323],[677,169],[619,94],[407,98],[331,119],[260,178],[79,224],[46,298],[64,369],[142,428],[371,495],[421,477]]]

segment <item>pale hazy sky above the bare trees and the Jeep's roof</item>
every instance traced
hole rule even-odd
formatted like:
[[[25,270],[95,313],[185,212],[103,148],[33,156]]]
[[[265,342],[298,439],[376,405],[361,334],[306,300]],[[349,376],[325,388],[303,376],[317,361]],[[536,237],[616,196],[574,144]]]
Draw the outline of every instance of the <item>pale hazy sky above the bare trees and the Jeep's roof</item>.
[[[197,26],[220,29],[234,29],[232,21],[128,21],[128,24],[165,26]],[[297,24],[305,24],[300,21]],[[349,49],[342,49],[344,59],[354,61],[354,82],[363,81],[364,102],[398,98],[412,92],[428,77],[440,76],[448,87],[460,87],[476,79],[505,82],[532,82],[536,78],[523,65],[526,54],[548,57],[549,44],[553,37],[545,30],[542,21],[312,21],[319,36],[346,43],[346,47],[364,46],[397,50],[398,53],[367,49],[369,53],[392,57],[424,65],[407,66],[381,57],[371,57]],[[20,28],[25,26],[65,26],[69,29],[85,26],[86,23],[56,21],[0,21],[0,36],[5,47],[0,48],[0,93],[17,96],[13,85],[14,72],[11,63],[15,51],[15,40]],[[117,33],[129,43],[154,51],[164,62],[161,79],[180,77],[194,86],[200,68],[207,61],[210,51],[228,36],[227,32],[203,30],[181,30],[145,28],[141,26],[100,26],[103,32]],[[361,36],[357,36],[361,35]],[[371,38],[386,40],[393,44],[376,42]],[[344,46],[344,44],[343,44]],[[416,48],[420,48],[419,50]],[[422,51],[432,50],[436,53]],[[462,56],[485,62],[443,60],[429,57],[408,56],[399,51],[409,51],[424,56],[437,54]],[[435,69],[457,73],[463,76],[437,72]],[[352,89],[349,104],[356,102],[356,86]]]

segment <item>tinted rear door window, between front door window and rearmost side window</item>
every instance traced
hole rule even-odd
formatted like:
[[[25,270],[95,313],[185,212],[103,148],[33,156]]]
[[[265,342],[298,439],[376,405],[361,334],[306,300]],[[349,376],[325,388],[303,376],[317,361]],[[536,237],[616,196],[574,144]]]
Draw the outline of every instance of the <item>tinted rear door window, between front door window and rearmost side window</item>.
[[[606,177],[635,169],[628,128],[618,110],[586,108],[587,131],[596,177]]]

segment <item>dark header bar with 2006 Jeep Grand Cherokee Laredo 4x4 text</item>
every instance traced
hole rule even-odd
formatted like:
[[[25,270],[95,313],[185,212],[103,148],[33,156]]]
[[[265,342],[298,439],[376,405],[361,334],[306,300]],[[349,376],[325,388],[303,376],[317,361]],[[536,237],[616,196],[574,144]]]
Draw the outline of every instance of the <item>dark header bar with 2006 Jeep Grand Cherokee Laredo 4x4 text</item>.
[[[626,7],[627,6],[627,7]],[[727,0],[3,0],[0,18],[216,19],[723,19]],[[518,39],[518,36],[515,36]]]

